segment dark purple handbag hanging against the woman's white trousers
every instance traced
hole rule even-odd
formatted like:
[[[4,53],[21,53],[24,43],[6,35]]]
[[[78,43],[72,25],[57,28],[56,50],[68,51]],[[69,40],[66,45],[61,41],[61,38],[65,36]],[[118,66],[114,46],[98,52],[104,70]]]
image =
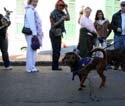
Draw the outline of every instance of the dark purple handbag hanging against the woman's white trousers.
[[[31,39],[31,48],[37,50],[40,48],[40,42],[37,36],[33,36]]]

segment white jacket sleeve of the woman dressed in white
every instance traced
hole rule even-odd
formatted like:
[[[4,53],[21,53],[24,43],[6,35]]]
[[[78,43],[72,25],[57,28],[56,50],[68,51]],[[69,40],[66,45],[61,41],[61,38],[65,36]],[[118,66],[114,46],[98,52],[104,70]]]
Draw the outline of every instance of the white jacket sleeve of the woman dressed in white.
[[[27,9],[26,18],[30,29],[32,30],[32,35],[37,35],[36,24],[35,24],[35,14],[32,9]]]

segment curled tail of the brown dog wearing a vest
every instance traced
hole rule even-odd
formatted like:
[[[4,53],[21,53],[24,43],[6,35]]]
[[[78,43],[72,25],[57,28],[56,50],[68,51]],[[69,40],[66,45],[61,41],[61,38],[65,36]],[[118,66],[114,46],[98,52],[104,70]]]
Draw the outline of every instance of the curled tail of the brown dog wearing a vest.
[[[104,48],[101,48],[101,47],[95,47],[94,49],[92,49],[89,52],[89,56],[92,57],[93,53],[95,52],[95,57],[96,57],[96,52],[98,52],[98,51],[103,53],[103,59],[106,60],[107,59],[106,52],[105,52]]]

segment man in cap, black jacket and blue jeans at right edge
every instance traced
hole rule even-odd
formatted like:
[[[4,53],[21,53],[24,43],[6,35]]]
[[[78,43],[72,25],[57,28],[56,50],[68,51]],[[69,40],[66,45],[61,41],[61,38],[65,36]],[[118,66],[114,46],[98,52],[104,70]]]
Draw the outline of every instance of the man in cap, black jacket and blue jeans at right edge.
[[[125,0],[120,2],[120,10],[113,14],[111,27],[114,32],[114,48],[125,49]],[[118,69],[119,65],[115,67]]]

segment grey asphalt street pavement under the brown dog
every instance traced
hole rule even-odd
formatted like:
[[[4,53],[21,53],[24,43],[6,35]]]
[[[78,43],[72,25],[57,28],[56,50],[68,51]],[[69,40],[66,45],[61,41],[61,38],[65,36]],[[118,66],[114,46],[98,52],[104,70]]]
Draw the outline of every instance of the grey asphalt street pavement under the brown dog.
[[[39,72],[27,73],[25,66],[13,70],[0,67],[0,106],[125,106],[125,72],[105,71],[105,88],[98,88],[100,78],[92,71],[87,87],[78,91],[79,80],[68,67],[52,71],[39,65]]]

